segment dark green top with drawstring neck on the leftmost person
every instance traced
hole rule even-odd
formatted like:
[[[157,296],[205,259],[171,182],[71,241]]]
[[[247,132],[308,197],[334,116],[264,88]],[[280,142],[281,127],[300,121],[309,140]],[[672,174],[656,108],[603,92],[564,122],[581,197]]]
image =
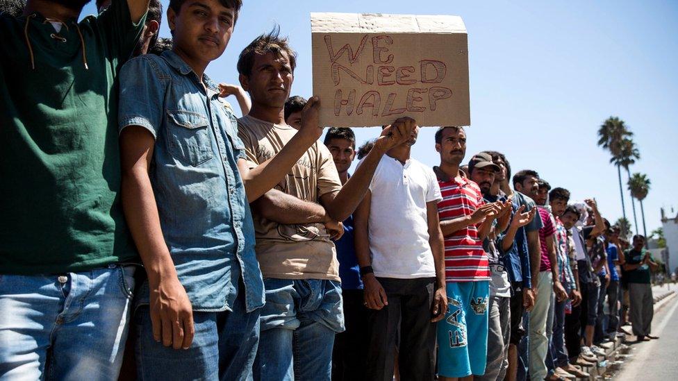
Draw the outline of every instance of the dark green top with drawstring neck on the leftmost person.
[[[117,74],[144,21],[131,22],[126,0],[60,31],[38,13],[0,15],[0,273],[136,259],[119,197]]]

